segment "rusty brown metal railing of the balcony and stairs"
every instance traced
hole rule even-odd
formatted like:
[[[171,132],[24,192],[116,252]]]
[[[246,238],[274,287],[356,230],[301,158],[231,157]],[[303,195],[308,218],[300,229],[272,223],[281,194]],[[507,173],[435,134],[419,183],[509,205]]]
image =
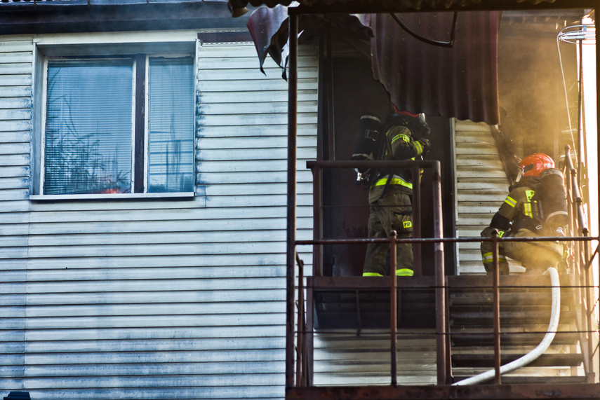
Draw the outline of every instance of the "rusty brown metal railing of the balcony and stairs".
[[[408,283],[408,280],[396,279],[395,275],[389,278],[389,338],[390,338],[390,384],[392,387],[397,385],[397,371],[396,371],[396,347],[398,340],[397,331],[397,290],[406,287],[427,287],[433,289],[435,292],[435,308],[436,308],[436,322],[435,322],[435,342],[436,342],[436,382],[437,385],[448,385],[452,382],[453,377],[453,366],[451,363],[451,333],[448,328],[448,291],[455,289],[448,284],[446,277],[445,266],[444,266],[444,244],[455,243],[455,242],[482,242],[491,241],[494,244],[495,250],[493,251],[493,259],[495,265],[495,272],[492,274],[492,286],[493,291],[493,346],[494,346],[494,383],[500,385],[502,378],[500,375],[500,338],[502,332],[500,331],[500,290],[506,288],[519,288],[502,285],[500,275],[498,271],[498,244],[502,241],[562,241],[571,249],[573,255],[569,260],[569,274],[572,274],[574,281],[578,282],[573,286],[573,289],[577,291],[577,298],[580,299],[577,321],[577,332],[579,335],[579,343],[583,354],[583,368],[587,375],[587,382],[592,383],[597,381],[599,366],[594,366],[594,355],[597,355],[598,351],[598,326],[596,315],[596,305],[598,304],[598,298],[594,294],[594,289],[597,289],[597,285],[593,283],[592,277],[592,261],[598,254],[598,248],[595,251],[591,251],[592,241],[598,242],[598,237],[590,237],[589,229],[587,228],[586,213],[584,212],[583,200],[580,195],[580,189],[577,184],[576,171],[573,168],[568,148],[566,149],[566,167],[564,170],[564,176],[567,186],[569,214],[571,216],[571,222],[569,224],[568,237],[498,237],[493,235],[492,237],[443,237],[443,226],[441,219],[441,180],[440,180],[440,165],[437,161],[378,161],[378,162],[365,162],[365,161],[313,161],[308,162],[307,167],[312,170],[313,174],[313,185],[314,185],[314,230],[312,240],[295,240],[295,247],[311,245],[313,247],[313,270],[312,277],[320,277],[323,275],[323,246],[329,244],[366,244],[372,242],[386,242],[390,246],[390,270],[395,270],[395,251],[397,242],[411,242],[415,247],[415,280]],[[434,235],[433,237],[421,237],[420,230],[420,216],[422,214],[420,201],[420,186],[413,186],[413,223],[414,233],[412,238],[397,238],[394,232],[390,233],[389,237],[382,239],[373,238],[324,238],[323,237],[323,226],[322,226],[322,214],[323,204],[321,200],[321,172],[327,168],[361,168],[361,167],[375,167],[375,168],[410,168],[413,171],[413,182],[419,181],[420,173],[422,170],[429,170],[432,176],[432,194],[433,194],[433,219],[434,219]],[[418,247],[425,243],[434,244],[434,280],[422,281],[418,280],[421,275],[421,263],[420,251]],[[297,254],[297,253],[296,253]],[[292,363],[288,365],[288,368],[294,368],[295,364],[295,385],[297,387],[310,387],[312,386],[312,338],[314,335],[313,331],[313,316],[314,312],[312,303],[312,287],[305,287],[305,271],[304,263],[298,256],[296,260],[299,266],[298,284],[295,287],[296,293],[298,294],[298,321],[297,321],[297,332],[295,333],[295,359],[288,358],[287,362]],[[412,279],[412,278],[409,278]],[[359,282],[354,281],[354,282]],[[425,282],[425,283],[423,283]],[[368,280],[365,283],[355,283],[361,289],[368,288]],[[305,291],[307,297],[305,298]],[[564,333],[564,332],[562,332]]]

